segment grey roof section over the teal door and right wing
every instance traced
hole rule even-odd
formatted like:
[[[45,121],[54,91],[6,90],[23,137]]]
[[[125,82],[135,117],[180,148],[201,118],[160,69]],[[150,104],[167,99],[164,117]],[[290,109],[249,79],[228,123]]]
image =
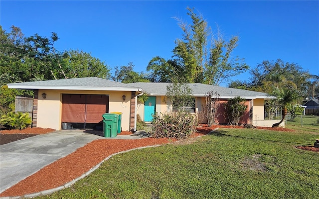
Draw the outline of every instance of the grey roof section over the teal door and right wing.
[[[150,96],[165,96],[166,88],[169,84],[171,83],[137,82],[130,83],[128,85],[140,87],[143,89],[143,92],[147,93]],[[188,86],[190,89],[192,89],[192,94],[194,97],[205,97],[208,92],[213,91],[217,92],[220,95],[219,98],[221,99],[230,99],[238,96],[244,99],[275,99],[274,96],[269,96],[266,93],[246,91],[242,89],[225,88],[200,83],[189,83]]]

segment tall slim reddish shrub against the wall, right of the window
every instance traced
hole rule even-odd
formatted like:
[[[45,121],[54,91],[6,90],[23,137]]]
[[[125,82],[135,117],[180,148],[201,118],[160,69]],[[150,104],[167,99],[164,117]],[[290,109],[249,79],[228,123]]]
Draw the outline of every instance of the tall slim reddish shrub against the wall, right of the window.
[[[210,91],[205,95],[206,101],[206,118],[208,126],[216,124],[216,118],[218,117],[218,108],[220,106],[219,94],[217,92]]]

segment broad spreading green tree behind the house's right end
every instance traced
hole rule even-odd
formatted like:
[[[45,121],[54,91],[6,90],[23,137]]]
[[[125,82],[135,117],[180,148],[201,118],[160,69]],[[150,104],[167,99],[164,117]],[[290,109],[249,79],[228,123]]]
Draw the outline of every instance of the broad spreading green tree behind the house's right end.
[[[234,81],[229,84],[232,88],[245,88],[251,91],[272,94],[274,88],[294,88],[299,91],[301,99],[316,96],[319,89],[317,75],[311,75],[295,63],[264,60],[250,71],[250,81]],[[317,90],[316,90],[317,89]],[[301,102],[301,101],[300,101]]]

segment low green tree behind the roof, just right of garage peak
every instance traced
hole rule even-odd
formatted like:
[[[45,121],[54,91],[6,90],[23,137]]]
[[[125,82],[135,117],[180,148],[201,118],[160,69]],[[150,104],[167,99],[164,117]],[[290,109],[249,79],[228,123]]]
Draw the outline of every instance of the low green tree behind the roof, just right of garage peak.
[[[143,72],[135,72],[133,68],[134,65],[132,62],[130,62],[127,66],[117,66],[115,68],[115,73],[112,79],[116,82],[122,82],[124,84],[133,82],[150,82]]]

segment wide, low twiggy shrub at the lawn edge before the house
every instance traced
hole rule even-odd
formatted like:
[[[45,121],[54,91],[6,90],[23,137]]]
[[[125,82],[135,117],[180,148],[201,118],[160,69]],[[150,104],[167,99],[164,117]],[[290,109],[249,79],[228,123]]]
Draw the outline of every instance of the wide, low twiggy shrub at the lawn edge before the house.
[[[160,113],[153,116],[151,135],[155,138],[186,139],[196,132],[196,119],[189,112]]]

